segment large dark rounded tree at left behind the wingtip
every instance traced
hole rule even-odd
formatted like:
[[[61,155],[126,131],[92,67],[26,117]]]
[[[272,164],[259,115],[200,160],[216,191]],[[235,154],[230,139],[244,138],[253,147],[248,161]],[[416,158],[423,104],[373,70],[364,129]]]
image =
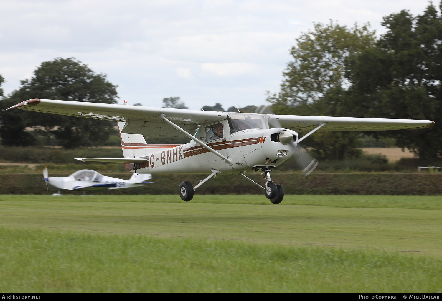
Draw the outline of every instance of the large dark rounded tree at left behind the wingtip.
[[[21,87],[0,103],[2,109],[32,98],[88,101],[115,104],[115,85],[105,74],[95,74],[74,58],[57,58],[43,62],[34,77],[21,82]],[[110,121],[53,115],[22,110],[1,111],[2,144],[31,145],[34,137],[27,127],[41,134],[54,135],[65,148],[103,144],[113,130]]]

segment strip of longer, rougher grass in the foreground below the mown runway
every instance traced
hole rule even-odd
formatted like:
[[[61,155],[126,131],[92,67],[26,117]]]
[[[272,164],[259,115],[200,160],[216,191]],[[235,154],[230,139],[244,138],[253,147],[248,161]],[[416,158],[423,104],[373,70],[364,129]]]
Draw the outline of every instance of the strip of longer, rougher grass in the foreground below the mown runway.
[[[0,291],[440,293],[442,261],[374,249],[0,228]]]

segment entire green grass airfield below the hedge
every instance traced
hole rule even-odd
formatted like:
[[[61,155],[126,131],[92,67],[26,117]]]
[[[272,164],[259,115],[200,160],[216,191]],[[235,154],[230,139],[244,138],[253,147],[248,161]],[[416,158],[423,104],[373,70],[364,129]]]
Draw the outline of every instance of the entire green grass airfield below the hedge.
[[[440,197],[0,196],[3,292],[442,292]]]

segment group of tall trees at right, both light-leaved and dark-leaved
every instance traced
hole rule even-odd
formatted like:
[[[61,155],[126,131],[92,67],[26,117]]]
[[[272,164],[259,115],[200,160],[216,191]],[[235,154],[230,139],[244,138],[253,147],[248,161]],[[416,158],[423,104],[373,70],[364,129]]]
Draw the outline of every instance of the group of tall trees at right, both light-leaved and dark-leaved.
[[[279,114],[433,120],[428,129],[365,134],[394,137],[396,145],[414,150],[421,159],[438,158],[442,17],[429,4],[422,15],[402,10],[385,16],[381,24],[387,31],[380,37],[368,24],[315,24],[296,39],[281,89],[268,92],[267,100]],[[319,131],[305,145],[318,158],[341,160],[360,155],[359,135]]]

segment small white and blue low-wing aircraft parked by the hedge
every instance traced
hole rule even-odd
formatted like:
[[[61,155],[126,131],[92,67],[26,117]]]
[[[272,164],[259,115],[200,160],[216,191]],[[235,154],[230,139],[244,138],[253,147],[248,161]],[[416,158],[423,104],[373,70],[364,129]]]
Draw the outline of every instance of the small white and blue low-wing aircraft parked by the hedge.
[[[129,180],[119,178],[107,177],[97,171],[90,169],[82,169],[74,172],[68,177],[49,177],[48,167],[43,169],[43,180],[57,189],[58,193],[53,193],[53,196],[61,195],[61,190],[75,190],[75,191],[89,191],[97,189],[121,189],[130,187],[144,186],[145,182],[152,178],[151,174],[133,174]]]

